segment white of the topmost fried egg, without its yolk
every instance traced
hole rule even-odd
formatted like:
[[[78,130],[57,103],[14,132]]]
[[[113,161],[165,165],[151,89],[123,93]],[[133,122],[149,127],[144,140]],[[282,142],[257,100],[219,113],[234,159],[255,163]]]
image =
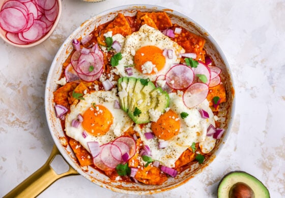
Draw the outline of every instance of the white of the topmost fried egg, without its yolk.
[[[155,74],[146,75],[139,72],[135,67],[133,67],[133,75],[135,78],[149,78],[151,81],[159,75],[165,75],[165,73],[172,67],[174,64],[180,63],[179,54],[185,53],[185,50],[176,42],[172,41],[169,37],[162,34],[159,30],[144,24],[140,27],[139,31],[132,33],[129,36],[126,36],[124,46],[122,48],[122,60],[119,61],[119,65],[116,66],[114,72],[121,77],[128,76],[125,71],[125,66],[132,65],[134,62],[135,52],[147,45],[154,45],[159,47],[161,50],[173,50],[173,58],[165,58],[164,67]]]

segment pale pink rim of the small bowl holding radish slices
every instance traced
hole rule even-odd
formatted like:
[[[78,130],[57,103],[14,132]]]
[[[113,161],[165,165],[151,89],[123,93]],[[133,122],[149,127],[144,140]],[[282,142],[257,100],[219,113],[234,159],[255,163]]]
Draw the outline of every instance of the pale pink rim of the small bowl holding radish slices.
[[[9,1],[9,0],[8,0]],[[9,39],[6,38],[5,35],[3,35],[2,33],[0,33],[0,37],[7,43],[13,45],[13,46],[16,46],[16,47],[21,47],[21,48],[27,48],[27,47],[33,47],[33,46],[36,46],[38,44],[41,44],[42,42],[44,42],[52,33],[53,31],[55,30],[56,26],[58,26],[58,23],[60,21],[60,18],[61,18],[61,13],[62,13],[62,2],[61,0],[56,0],[58,2],[58,5],[59,5],[59,13],[58,13],[58,16],[56,16],[56,19],[54,20],[54,23],[52,25],[52,28],[48,31],[48,33],[42,37],[40,40],[37,40],[36,42],[33,42],[33,43],[30,43],[30,44],[25,44],[25,45],[21,45],[21,44],[16,44],[16,43],[13,43],[11,42]],[[5,1],[6,2],[6,1]],[[3,4],[5,3],[3,2]],[[3,4],[1,5],[0,9],[2,8]],[[1,27],[0,27],[1,30],[3,30]],[[4,31],[4,30],[3,30]]]

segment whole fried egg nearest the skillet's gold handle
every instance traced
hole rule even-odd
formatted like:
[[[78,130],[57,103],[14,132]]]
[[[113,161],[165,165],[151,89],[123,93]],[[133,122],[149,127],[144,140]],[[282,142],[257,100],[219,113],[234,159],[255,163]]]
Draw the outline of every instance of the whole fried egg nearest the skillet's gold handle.
[[[114,108],[119,97],[113,91],[94,91],[83,96],[76,105],[70,107],[66,116],[66,134],[79,141],[89,152],[87,142],[97,141],[100,145],[108,143],[121,136],[132,126],[132,120],[121,109]],[[79,126],[73,127],[72,120],[82,115],[83,121]],[[87,136],[82,135],[85,131]]]

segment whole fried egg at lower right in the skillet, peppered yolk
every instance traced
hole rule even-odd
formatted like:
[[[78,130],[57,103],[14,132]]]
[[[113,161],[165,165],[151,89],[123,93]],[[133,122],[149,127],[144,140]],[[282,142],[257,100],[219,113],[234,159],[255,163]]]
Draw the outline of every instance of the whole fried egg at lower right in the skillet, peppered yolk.
[[[207,99],[194,108],[187,108],[183,103],[183,92],[169,93],[169,109],[160,116],[157,122],[149,123],[143,128],[134,127],[144,144],[150,147],[152,159],[168,167],[175,167],[176,160],[192,145],[200,142],[203,153],[209,153],[215,146],[215,139],[207,136],[207,129],[215,126],[214,115]],[[201,117],[199,109],[209,113],[209,118]],[[186,118],[181,113],[188,114]],[[155,137],[147,139],[145,133],[153,132]],[[159,149],[159,141],[168,141],[164,149]]]

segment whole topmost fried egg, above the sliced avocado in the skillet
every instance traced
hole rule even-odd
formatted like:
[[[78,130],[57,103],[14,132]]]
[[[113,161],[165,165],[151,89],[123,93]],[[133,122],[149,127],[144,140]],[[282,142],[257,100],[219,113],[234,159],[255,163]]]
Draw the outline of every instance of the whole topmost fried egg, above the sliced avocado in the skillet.
[[[164,56],[164,49],[173,50],[173,58]],[[139,31],[126,36],[121,53],[122,60],[114,69],[117,75],[128,76],[125,67],[133,65],[132,77],[155,81],[174,64],[180,63],[179,54],[185,50],[159,30],[144,24]]]

